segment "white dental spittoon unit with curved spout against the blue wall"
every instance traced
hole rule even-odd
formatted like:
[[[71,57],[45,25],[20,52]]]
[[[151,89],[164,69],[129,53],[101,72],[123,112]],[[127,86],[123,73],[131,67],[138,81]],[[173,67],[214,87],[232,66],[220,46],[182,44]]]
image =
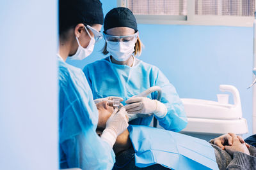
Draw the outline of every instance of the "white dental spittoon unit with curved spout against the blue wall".
[[[188,117],[188,125],[181,133],[207,141],[228,132],[240,136],[248,133],[248,125],[241,110],[239,91],[232,85],[220,85],[220,90],[231,92],[234,104],[181,99]]]

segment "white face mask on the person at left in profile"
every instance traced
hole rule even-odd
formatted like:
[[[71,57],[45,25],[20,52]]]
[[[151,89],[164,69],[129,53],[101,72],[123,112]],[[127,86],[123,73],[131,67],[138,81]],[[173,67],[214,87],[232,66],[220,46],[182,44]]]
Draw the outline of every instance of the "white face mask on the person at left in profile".
[[[88,35],[90,36],[91,40],[89,45],[86,48],[83,48],[83,46],[80,45],[78,38],[76,37],[76,41],[78,44],[78,48],[76,50],[76,53],[69,57],[71,60],[83,60],[84,58],[88,57],[92,52],[95,45],[95,39],[92,38],[86,27],[84,27]]]

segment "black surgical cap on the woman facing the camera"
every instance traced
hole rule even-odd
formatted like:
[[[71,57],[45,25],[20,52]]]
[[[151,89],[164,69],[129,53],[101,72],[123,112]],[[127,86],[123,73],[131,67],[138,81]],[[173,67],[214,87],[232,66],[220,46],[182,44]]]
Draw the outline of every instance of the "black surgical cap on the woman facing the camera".
[[[104,20],[104,31],[114,27],[130,27],[136,31],[137,22],[131,10],[124,7],[114,8],[109,11]]]

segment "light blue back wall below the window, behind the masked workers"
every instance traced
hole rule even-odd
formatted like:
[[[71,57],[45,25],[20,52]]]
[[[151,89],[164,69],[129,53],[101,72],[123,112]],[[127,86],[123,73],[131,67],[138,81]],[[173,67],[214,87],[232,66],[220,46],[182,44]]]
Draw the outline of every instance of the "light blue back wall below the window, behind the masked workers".
[[[104,14],[116,7],[116,1],[102,0]],[[252,27],[144,25],[139,24],[145,49],[141,60],[154,64],[175,85],[180,97],[216,100],[220,84],[237,87],[244,118],[252,134]],[[102,59],[99,50],[82,62],[68,61],[83,68]]]

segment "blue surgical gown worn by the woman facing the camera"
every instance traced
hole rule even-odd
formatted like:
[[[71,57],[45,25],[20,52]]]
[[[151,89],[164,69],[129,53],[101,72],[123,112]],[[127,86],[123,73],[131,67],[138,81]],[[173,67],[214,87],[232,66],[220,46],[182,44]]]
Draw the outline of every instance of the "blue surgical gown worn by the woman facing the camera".
[[[130,97],[157,85],[162,89],[161,103],[164,103],[168,109],[165,117],[156,117],[159,125],[166,130],[176,132],[184,129],[187,125],[186,113],[175,87],[156,66],[147,64],[135,57],[134,59],[135,62],[132,67],[114,64],[109,61],[109,57],[85,66],[83,71],[92,89],[93,98],[119,96],[126,101]],[[157,92],[152,93],[149,97],[156,99]],[[153,115],[147,118],[136,118],[129,124],[150,125],[152,118]]]

